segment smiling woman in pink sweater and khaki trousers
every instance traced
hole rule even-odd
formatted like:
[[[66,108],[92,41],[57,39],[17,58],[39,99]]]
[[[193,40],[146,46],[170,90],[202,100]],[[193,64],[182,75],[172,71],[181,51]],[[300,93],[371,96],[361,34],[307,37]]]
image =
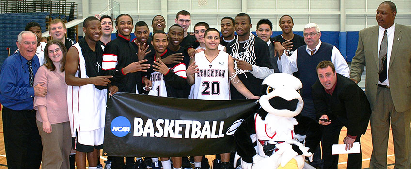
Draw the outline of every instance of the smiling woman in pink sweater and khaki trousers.
[[[71,151],[67,112],[67,84],[64,64],[67,49],[60,41],[48,41],[44,50],[46,63],[34,78],[34,85],[47,87],[44,97],[34,97],[37,127],[43,144],[42,169],[69,169]]]

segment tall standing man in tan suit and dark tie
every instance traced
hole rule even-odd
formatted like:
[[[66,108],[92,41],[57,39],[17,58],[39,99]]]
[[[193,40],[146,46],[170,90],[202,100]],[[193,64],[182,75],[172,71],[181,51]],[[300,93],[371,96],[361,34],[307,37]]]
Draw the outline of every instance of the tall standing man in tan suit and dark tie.
[[[411,27],[395,24],[396,6],[382,2],[376,14],[379,26],[359,32],[350,77],[361,80],[366,66],[366,95],[371,104],[373,151],[370,169],[387,168],[388,134],[394,141],[395,169],[411,164]]]

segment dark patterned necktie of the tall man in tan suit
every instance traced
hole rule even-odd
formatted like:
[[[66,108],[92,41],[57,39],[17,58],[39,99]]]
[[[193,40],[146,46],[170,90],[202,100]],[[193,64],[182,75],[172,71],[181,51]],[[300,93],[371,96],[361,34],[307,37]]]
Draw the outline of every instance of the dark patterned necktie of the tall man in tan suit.
[[[379,47],[379,82],[384,82],[387,79],[387,30],[384,31],[384,36],[382,37],[381,46]]]

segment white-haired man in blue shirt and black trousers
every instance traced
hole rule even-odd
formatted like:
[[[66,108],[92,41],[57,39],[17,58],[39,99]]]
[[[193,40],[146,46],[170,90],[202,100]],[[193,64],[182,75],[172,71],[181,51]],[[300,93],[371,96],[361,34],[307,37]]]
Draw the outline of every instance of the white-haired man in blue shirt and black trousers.
[[[43,146],[33,109],[35,96],[45,96],[44,83],[34,84],[40,67],[36,55],[37,36],[22,31],[18,51],[4,60],[0,72],[0,102],[4,105],[3,136],[9,169],[40,168]]]

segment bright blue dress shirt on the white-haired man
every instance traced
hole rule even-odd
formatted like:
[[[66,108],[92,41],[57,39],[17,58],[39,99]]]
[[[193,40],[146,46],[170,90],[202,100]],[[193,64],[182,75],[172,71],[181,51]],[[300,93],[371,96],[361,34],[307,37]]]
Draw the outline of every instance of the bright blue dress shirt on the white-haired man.
[[[29,65],[20,51],[9,56],[0,71],[0,102],[12,110],[32,110],[34,88],[30,87]],[[37,56],[32,58],[33,75],[40,67]]]

